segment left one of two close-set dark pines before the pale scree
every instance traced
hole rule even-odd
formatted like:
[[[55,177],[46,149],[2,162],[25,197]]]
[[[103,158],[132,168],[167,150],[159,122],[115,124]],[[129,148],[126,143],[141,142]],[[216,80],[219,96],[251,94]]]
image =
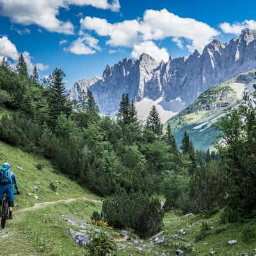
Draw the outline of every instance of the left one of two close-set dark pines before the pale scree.
[[[118,109],[117,119],[119,124],[124,127],[131,123],[131,104],[128,94],[122,95],[122,100]]]

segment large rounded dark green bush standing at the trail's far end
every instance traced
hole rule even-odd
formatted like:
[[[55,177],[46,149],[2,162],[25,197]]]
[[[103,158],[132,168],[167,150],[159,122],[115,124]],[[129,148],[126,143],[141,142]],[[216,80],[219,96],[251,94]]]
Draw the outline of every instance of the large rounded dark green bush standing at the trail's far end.
[[[156,234],[163,226],[161,202],[142,192],[119,189],[116,195],[104,200],[102,217],[115,228],[132,228],[140,237]]]

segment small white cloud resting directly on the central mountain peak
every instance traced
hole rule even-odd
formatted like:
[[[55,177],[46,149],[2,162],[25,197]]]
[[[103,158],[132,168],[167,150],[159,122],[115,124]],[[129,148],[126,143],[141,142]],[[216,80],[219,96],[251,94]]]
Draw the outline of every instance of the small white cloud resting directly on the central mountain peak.
[[[138,58],[143,52],[150,55],[155,60],[161,62],[167,62],[169,60],[169,54],[165,48],[159,48],[154,42],[146,41],[141,44],[136,44],[133,47],[132,57]]]

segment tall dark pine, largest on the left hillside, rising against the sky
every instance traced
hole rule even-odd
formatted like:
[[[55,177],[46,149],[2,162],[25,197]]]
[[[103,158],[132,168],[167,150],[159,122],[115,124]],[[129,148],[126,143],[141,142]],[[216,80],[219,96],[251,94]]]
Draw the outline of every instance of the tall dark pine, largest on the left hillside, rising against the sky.
[[[50,125],[55,127],[58,117],[63,113],[70,114],[70,102],[67,100],[67,91],[64,86],[64,72],[55,68],[51,75],[51,86],[49,90],[49,116]]]

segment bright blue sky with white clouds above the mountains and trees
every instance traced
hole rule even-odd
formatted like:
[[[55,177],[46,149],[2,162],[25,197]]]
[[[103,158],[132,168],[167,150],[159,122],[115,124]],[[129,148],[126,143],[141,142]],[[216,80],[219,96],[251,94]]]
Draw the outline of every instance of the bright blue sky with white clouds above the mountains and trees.
[[[143,51],[166,61],[227,42],[256,29],[255,11],[250,0],[0,0],[0,58],[25,52],[30,69],[60,67],[70,87]]]

